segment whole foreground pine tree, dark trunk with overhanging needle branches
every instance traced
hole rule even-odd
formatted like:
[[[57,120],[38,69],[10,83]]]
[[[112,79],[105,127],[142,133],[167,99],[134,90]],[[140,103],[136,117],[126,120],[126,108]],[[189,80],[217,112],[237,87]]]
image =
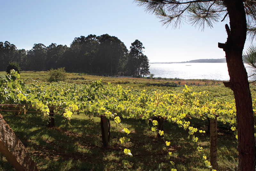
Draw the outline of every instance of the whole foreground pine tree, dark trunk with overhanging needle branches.
[[[218,43],[226,53],[229,82],[236,101],[239,171],[255,170],[252,97],[242,56],[246,35],[256,35],[255,0],[135,0],[146,11],[154,13],[164,25],[176,28],[184,20],[194,26],[213,27],[229,18],[225,25],[227,42]],[[223,28],[224,29],[224,28]]]

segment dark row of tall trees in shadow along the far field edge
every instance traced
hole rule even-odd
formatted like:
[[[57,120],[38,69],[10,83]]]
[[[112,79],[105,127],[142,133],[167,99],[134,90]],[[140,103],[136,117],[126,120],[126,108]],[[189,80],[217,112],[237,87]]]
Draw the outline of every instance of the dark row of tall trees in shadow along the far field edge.
[[[38,43],[27,51],[5,41],[0,42],[0,71],[5,71],[9,62],[17,62],[25,71],[65,67],[68,72],[146,76],[150,74],[149,60],[143,49],[143,44],[135,40],[128,51],[121,40],[108,34],[76,37],[70,47]]]

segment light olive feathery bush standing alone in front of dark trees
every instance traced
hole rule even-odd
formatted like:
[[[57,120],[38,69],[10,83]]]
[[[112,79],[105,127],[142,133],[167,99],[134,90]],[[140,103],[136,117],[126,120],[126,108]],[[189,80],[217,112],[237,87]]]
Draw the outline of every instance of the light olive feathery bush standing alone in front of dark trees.
[[[67,78],[67,74],[65,68],[51,69],[48,71],[48,76],[46,81],[48,82],[59,82],[65,81]]]

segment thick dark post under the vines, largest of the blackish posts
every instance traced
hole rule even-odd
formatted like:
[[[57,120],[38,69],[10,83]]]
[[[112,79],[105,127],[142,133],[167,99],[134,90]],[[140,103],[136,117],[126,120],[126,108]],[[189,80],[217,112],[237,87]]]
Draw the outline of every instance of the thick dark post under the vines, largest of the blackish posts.
[[[106,116],[100,116],[102,144],[106,148],[110,140],[110,122]]]

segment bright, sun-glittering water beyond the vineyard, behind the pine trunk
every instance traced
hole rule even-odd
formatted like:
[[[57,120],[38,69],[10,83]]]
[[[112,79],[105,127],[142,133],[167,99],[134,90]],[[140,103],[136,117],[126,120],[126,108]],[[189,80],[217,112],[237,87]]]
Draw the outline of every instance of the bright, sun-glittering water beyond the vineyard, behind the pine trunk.
[[[154,77],[181,79],[209,79],[228,81],[226,63],[149,63],[149,72]],[[248,76],[255,73],[248,65],[244,65]],[[248,78],[256,80],[256,75]]]

